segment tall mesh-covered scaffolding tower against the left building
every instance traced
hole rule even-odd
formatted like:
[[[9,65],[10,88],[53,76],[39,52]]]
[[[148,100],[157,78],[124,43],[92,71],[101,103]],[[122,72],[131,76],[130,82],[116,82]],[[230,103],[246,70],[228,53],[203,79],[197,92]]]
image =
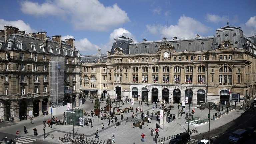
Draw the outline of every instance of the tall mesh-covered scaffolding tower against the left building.
[[[64,57],[52,57],[50,61],[50,106],[63,106],[64,101]]]

